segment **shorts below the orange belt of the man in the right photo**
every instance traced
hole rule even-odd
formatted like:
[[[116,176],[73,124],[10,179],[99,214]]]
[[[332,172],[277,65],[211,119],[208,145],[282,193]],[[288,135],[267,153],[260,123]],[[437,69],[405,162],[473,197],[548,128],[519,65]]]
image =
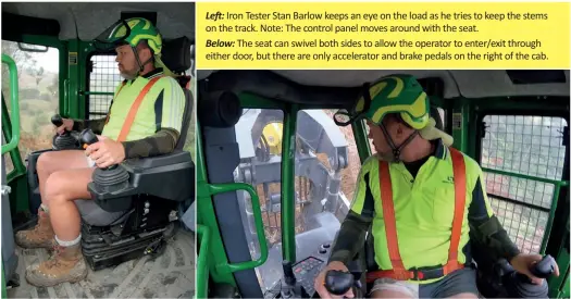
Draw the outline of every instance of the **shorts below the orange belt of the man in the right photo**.
[[[461,292],[479,296],[476,273],[472,267],[457,270],[438,282],[424,285],[380,278],[374,282],[370,292],[375,290],[398,291],[410,298],[449,298]]]

